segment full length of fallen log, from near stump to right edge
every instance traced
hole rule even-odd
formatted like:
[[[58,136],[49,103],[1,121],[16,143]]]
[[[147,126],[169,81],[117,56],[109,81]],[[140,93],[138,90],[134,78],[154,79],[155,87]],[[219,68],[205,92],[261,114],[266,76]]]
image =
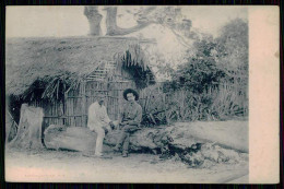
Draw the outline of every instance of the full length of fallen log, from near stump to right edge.
[[[237,125],[244,127],[246,122],[239,121]],[[214,123],[214,126],[210,125],[210,122],[182,122],[171,127],[142,128],[130,137],[130,151],[162,153],[163,147],[166,147],[178,152],[198,143],[214,143],[222,147],[248,152],[248,139],[241,139],[245,134],[237,132],[237,129],[234,129],[232,133],[232,127],[226,127],[220,122]],[[120,130],[110,131],[104,140],[104,144],[115,146],[119,135]],[[51,149],[69,147],[70,150],[90,151],[94,149],[95,140],[96,134],[87,128],[52,125],[45,131],[44,141]]]

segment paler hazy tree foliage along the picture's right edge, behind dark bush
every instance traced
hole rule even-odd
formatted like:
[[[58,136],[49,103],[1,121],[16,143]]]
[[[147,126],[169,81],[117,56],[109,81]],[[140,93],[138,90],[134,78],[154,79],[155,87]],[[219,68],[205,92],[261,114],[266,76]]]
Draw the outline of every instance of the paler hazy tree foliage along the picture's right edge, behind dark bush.
[[[240,19],[226,24],[216,39],[216,62],[235,84],[248,85],[248,24]]]

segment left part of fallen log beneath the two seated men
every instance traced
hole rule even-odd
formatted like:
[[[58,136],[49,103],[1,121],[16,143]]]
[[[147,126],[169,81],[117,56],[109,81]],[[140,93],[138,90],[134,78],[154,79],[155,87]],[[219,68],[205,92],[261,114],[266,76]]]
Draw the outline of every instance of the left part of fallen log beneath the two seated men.
[[[110,131],[104,140],[104,144],[116,145],[120,132],[120,130]],[[158,149],[158,142],[154,142],[154,138],[158,132],[158,129],[138,131],[130,138],[130,151],[155,153],[155,150]],[[94,151],[96,144],[96,133],[83,127],[50,125],[44,134],[44,143],[47,149],[91,152]]]

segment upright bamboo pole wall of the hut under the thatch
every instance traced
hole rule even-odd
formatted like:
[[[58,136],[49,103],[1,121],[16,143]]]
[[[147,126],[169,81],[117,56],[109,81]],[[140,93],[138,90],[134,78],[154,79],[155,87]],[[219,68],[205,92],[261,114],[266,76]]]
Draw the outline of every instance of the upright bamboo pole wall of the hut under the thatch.
[[[44,109],[44,129],[49,125],[86,127],[87,109],[98,95],[106,96],[105,106],[109,118],[118,119],[126,103],[122,93],[129,87],[135,88],[134,81],[119,69],[107,80],[82,82],[76,90],[70,90],[66,94],[64,102],[39,101],[31,102],[29,105]]]

